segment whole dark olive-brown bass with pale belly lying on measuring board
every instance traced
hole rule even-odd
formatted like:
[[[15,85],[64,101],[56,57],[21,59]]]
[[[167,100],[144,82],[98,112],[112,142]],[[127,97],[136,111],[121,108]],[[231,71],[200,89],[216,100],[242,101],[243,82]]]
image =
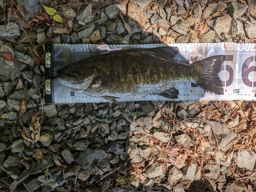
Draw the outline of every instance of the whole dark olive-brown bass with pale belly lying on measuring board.
[[[123,50],[85,58],[57,71],[54,81],[91,97],[117,103],[157,94],[177,99],[175,84],[194,82],[209,92],[223,94],[219,72],[225,55],[194,63],[176,62],[178,47]]]

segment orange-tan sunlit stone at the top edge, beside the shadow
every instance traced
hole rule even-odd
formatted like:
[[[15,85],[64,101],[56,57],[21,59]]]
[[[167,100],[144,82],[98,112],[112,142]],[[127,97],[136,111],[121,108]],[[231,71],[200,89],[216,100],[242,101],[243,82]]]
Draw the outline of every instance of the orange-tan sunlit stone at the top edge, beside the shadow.
[[[130,24],[138,24],[141,27],[145,25],[146,22],[146,15],[140,9],[135,1],[130,1],[128,4],[128,10],[127,10],[127,16],[128,16],[128,23]]]

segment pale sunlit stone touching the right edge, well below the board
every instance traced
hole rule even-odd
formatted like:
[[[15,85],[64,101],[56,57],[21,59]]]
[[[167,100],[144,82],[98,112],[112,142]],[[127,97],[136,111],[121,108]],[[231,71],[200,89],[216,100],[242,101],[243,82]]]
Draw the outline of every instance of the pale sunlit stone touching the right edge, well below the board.
[[[252,172],[255,166],[255,159],[253,155],[247,151],[239,151],[237,165],[240,168],[247,168]]]

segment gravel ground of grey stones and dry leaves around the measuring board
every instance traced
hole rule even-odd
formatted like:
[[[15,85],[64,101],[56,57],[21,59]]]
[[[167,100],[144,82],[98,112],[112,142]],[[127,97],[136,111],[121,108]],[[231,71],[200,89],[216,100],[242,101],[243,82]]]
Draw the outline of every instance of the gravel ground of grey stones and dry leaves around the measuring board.
[[[256,191],[255,102],[44,102],[48,41],[255,42],[254,0],[0,6],[1,191]]]

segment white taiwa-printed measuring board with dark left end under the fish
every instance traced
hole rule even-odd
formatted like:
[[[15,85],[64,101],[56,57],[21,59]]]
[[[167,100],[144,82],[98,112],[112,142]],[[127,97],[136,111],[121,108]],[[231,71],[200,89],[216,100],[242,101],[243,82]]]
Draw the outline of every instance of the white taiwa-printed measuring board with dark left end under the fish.
[[[46,45],[46,103],[109,102],[103,98],[94,98],[54,82],[56,71],[72,62],[102,52],[127,49],[148,49],[156,47],[178,47],[180,54],[174,58],[178,62],[193,63],[197,60],[226,55],[219,76],[222,80],[224,94],[216,95],[186,82],[175,84],[179,90],[178,101],[193,100],[256,100],[256,45],[233,42],[198,43],[198,44],[148,44],[148,45],[96,45],[96,44],[51,44]],[[255,72],[255,73],[254,73]],[[143,100],[172,100],[159,95],[147,95],[136,98]],[[117,99],[117,101],[133,101]]]

